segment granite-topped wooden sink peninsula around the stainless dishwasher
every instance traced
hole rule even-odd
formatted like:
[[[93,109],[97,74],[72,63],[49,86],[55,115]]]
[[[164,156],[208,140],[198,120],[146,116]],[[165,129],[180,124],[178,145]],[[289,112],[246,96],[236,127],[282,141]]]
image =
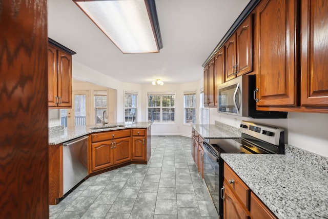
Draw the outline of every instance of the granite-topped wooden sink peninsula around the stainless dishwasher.
[[[63,147],[66,142],[88,137],[84,165],[88,170],[86,175],[95,175],[129,164],[147,164],[151,155],[150,127],[151,123],[139,122],[49,128],[49,204],[57,204],[64,196]]]

